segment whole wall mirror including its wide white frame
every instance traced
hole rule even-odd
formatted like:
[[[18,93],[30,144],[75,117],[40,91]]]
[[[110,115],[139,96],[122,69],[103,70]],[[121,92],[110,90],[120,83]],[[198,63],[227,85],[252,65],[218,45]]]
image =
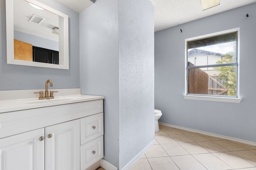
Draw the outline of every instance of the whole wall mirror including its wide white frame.
[[[69,69],[68,16],[36,0],[6,0],[7,64]]]

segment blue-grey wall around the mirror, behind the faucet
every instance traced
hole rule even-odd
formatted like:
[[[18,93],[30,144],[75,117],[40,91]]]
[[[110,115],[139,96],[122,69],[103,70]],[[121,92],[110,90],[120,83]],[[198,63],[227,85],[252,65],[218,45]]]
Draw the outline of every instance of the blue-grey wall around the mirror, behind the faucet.
[[[38,0],[69,16],[70,69],[6,64],[5,0],[0,0],[0,90],[44,89],[47,79],[53,88],[79,88],[79,14],[54,0]]]

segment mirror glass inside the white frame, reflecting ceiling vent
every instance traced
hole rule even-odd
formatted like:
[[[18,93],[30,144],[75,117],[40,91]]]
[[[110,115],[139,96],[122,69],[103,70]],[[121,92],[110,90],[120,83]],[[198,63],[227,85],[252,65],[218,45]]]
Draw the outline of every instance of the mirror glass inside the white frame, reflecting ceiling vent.
[[[14,59],[59,62],[59,16],[25,0],[14,0]]]

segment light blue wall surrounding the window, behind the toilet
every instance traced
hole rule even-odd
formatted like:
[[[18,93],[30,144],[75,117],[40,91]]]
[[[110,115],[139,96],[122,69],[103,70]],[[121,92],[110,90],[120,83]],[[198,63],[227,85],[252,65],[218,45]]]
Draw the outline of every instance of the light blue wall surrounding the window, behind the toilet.
[[[162,110],[160,122],[256,142],[255,9],[251,4],[155,33],[155,108]],[[236,27],[240,27],[239,86],[244,100],[240,104],[184,100],[185,39]]]

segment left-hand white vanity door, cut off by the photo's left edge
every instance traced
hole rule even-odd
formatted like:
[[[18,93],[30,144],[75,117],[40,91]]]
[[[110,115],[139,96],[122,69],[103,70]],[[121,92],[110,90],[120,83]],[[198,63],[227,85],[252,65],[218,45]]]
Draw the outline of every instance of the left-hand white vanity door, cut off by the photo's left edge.
[[[0,139],[0,170],[44,170],[44,128]]]

